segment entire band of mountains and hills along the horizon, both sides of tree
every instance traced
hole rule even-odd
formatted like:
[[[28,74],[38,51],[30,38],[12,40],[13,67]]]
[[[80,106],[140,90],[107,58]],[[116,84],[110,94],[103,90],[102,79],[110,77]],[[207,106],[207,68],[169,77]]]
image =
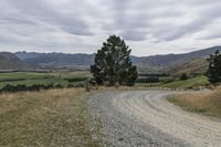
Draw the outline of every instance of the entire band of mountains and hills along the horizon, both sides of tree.
[[[207,57],[221,46],[213,46],[194,52],[182,54],[165,54],[151,56],[131,56],[131,61],[137,65],[139,72],[169,72],[200,74],[207,70]],[[73,69],[88,70],[94,63],[95,54],[66,54],[66,53],[36,53],[17,52],[3,53],[0,55],[0,69]],[[8,56],[8,57],[6,57]],[[9,64],[8,64],[9,63]],[[6,66],[7,65],[7,66]]]

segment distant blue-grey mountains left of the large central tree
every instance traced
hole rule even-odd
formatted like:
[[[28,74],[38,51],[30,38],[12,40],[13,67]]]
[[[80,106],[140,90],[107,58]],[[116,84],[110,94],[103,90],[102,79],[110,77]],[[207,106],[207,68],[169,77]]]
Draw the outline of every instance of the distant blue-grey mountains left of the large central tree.
[[[15,55],[29,65],[55,69],[88,69],[94,54],[17,52]]]

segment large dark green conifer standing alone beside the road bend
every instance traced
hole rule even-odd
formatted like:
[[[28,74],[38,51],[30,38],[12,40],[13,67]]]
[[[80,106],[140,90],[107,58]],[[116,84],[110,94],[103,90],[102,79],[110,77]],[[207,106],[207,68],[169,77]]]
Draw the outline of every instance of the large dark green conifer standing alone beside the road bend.
[[[114,86],[134,85],[137,78],[137,69],[130,60],[131,50],[119,36],[112,35],[95,55],[95,63],[91,72],[98,84]]]

